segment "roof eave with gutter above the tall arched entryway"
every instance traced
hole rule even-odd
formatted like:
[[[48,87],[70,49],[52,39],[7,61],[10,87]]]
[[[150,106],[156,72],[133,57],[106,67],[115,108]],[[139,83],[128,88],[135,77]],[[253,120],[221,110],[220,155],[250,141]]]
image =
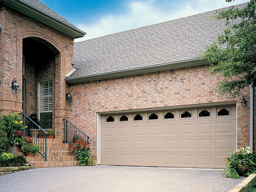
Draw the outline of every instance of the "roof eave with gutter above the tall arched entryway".
[[[52,28],[55,28],[68,36],[73,38],[83,37],[86,33],[64,21],[50,15],[47,12],[29,4],[24,0],[0,0],[3,1],[5,5],[25,14],[33,19],[36,19]]]

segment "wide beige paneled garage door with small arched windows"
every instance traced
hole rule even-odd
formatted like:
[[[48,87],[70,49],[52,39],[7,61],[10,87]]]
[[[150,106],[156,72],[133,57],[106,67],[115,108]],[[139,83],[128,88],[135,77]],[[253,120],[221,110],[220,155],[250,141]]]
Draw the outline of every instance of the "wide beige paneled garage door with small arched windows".
[[[224,168],[236,106],[101,115],[101,164]]]

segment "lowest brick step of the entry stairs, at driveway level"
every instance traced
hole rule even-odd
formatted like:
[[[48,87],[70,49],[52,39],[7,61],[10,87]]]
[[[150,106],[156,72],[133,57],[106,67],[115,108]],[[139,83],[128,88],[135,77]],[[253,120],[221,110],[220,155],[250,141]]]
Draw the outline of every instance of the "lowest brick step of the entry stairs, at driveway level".
[[[31,162],[32,167],[35,168],[45,168],[45,167],[69,167],[69,166],[79,166],[77,161],[55,161],[55,162]]]

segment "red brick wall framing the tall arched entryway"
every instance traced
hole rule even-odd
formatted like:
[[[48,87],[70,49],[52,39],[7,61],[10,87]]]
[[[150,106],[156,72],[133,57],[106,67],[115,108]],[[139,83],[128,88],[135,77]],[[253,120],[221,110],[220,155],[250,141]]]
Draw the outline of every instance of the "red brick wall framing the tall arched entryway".
[[[3,19],[4,18],[4,19]],[[57,125],[57,137],[62,137],[62,118],[67,117],[66,108],[66,82],[65,75],[72,70],[73,38],[49,26],[27,17],[11,8],[0,5],[0,84],[1,113],[22,111],[22,92],[12,92],[11,83],[17,77],[17,83],[22,87],[22,39],[37,37],[52,44],[59,52],[55,58],[55,115],[54,124]],[[3,51],[4,50],[4,51]],[[4,52],[4,54],[2,54]]]

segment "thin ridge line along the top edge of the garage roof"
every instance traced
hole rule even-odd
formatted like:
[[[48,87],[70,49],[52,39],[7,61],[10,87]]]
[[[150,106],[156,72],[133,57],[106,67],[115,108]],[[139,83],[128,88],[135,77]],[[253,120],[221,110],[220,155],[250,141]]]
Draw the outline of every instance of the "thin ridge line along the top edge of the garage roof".
[[[210,11],[206,11],[206,12],[201,12],[201,13],[197,13],[197,14],[194,14],[194,15],[188,15],[188,16],[180,17],[180,18],[173,19],[173,20],[168,20],[168,21],[163,21],[163,22],[160,22],[160,23],[154,23],[154,24],[151,24],[151,25],[146,25],[146,26],[142,26],[142,27],[138,27],[138,28],[128,29],[128,30],[125,30],[125,31],[120,31],[120,32],[116,32],[116,33],[112,33],[112,34],[108,34],[108,35],[104,35],[104,36],[94,37],[92,39],[86,39],[86,40],[83,40],[83,41],[74,42],[74,44],[82,43],[82,42],[93,40],[93,39],[98,39],[98,38],[101,38],[101,37],[112,36],[112,35],[128,32],[128,31],[132,31],[132,30],[137,30],[137,29],[140,29],[140,28],[145,28],[145,27],[150,27],[150,26],[154,26],[154,25],[159,25],[159,24],[162,24],[162,23],[170,22],[170,21],[181,20],[181,19],[185,19],[185,18],[188,18],[188,17],[194,17],[196,15],[200,15],[200,14],[204,14],[204,13],[208,13],[208,12],[215,12],[215,11],[218,11],[218,10],[229,9],[231,7],[234,7],[234,6],[240,6],[240,5],[247,4],[247,3],[248,2],[241,3],[241,4],[236,4],[236,5],[230,5],[228,7],[222,7],[222,8],[219,8],[219,9],[214,9],[214,10],[210,10]]]

